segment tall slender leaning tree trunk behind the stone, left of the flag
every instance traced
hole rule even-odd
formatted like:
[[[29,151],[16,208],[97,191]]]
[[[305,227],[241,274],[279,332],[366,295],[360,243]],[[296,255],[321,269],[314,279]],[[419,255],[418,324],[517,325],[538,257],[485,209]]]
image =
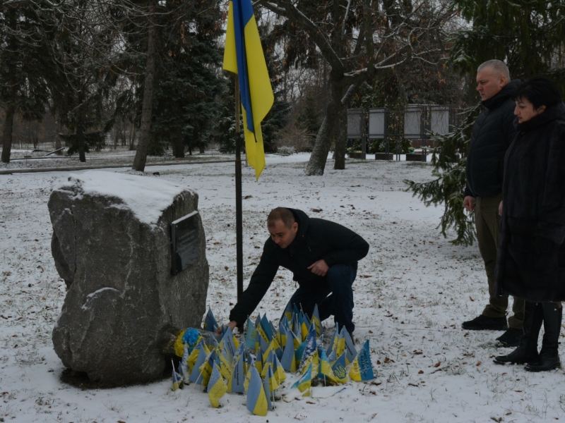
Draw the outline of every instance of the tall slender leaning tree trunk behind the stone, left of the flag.
[[[152,1],[149,19],[155,18],[155,1]],[[153,84],[155,82],[155,23],[149,23],[149,34],[147,41],[147,63],[145,68],[145,87],[143,89],[143,109],[141,111],[141,135],[136,149],[136,158],[133,159],[134,171],[145,171],[147,162],[147,151],[149,147],[149,136],[151,132],[151,116],[153,115]]]

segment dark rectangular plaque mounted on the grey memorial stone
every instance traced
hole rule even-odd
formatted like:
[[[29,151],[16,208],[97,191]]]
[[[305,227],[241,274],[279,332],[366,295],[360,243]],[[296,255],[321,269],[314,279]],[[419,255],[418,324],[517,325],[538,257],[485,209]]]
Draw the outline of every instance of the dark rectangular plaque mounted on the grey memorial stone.
[[[171,223],[172,268],[176,275],[198,261],[198,212]]]

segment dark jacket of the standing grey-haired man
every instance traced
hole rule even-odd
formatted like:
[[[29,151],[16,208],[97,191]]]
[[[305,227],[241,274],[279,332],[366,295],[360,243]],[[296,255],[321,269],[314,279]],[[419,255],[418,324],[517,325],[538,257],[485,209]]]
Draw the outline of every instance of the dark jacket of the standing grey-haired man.
[[[516,136],[512,94],[519,83],[520,80],[509,82],[494,97],[482,102],[484,110],[472,127],[465,197],[492,197],[502,190],[504,154]]]

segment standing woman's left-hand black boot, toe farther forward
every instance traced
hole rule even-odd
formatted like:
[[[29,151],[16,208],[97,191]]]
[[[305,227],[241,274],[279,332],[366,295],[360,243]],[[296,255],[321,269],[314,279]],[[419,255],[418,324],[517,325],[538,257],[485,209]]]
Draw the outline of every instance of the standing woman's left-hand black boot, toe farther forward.
[[[524,326],[520,345],[509,355],[494,358],[496,364],[526,364],[537,360],[537,337],[542,328],[543,307],[541,303],[524,303]]]

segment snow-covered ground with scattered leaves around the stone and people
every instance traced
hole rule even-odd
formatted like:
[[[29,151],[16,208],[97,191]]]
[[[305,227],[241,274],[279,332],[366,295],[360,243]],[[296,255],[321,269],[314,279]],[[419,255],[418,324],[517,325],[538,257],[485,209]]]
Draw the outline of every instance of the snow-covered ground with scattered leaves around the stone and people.
[[[531,374],[522,366],[498,366],[492,357],[511,351],[492,342],[500,333],[460,328],[482,311],[487,283],[477,247],[451,245],[436,228],[441,209],[426,208],[404,191],[403,179],[428,180],[431,167],[368,160],[347,161],[345,171],[334,171],[328,161],[324,176],[307,177],[307,159],[307,154],[269,156],[258,182],[251,168],[243,169],[244,283],[258,263],[273,207],[303,209],[357,231],[371,250],[355,281],[355,338],[358,347],[370,340],[374,382],[349,383],[327,399],[281,401],[267,417],[251,415],[245,396],[226,394],[225,406],[213,409],[199,386],[172,392],[169,379],[113,389],[64,384],[51,331],[65,287],[51,257],[47,200],[52,183],[68,173],[3,175],[0,422],[565,419],[561,369]],[[236,298],[233,164],[152,167],[148,178],[183,183],[199,193],[210,262],[207,302],[218,321],[226,321]],[[257,312],[278,319],[294,289],[292,275],[281,269]]]

